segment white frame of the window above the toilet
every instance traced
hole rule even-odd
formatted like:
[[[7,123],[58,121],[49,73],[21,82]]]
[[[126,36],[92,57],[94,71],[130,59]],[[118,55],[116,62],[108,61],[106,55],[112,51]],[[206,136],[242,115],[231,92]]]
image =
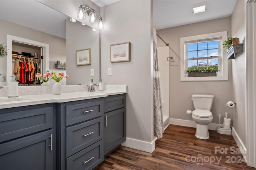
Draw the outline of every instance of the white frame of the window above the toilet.
[[[228,80],[228,59],[226,53],[220,46],[220,57],[219,57],[219,68],[220,73],[217,76],[210,77],[187,77],[186,67],[187,67],[187,42],[196,42],[202,40],[210,40],[214,38],[221,38],[220,44],[228,39],[228,32],[216,32],[210,34],[202,34],[198,36],[182,37],[180,38],[180,81],[226,81]]]

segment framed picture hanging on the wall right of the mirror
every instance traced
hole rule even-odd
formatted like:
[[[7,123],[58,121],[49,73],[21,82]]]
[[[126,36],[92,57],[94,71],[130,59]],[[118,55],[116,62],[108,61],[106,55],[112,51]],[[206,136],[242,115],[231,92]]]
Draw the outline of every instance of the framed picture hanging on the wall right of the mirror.
[[[110,62],[130,61],[130,42],[110,45]]]

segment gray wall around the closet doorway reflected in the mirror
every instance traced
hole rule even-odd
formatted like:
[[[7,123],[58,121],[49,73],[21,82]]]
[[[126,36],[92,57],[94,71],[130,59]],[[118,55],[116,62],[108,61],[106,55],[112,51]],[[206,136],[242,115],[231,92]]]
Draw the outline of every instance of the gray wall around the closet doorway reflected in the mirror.
[[[59,38],[5,20],[0,20],[0,30],[0,43],[5,43],[5,45],[7,34],[49,44],[49,71],[56,70],[57,73],[61,71],[66,75],[66,70],[57,70],[54,65],[57,60],[66,62],[66,40],[64,38]],[[6,74],[6,57],[0,57],[0,74]],[[66,79],[63,79],[60,83],[66,85]]]

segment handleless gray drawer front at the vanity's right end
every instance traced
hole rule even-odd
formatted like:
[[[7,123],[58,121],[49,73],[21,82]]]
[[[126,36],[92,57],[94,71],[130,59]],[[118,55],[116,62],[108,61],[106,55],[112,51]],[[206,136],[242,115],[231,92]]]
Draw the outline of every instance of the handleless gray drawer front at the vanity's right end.
[[[125,107],[125,95],[114,95],[104,99],[104,113]]]

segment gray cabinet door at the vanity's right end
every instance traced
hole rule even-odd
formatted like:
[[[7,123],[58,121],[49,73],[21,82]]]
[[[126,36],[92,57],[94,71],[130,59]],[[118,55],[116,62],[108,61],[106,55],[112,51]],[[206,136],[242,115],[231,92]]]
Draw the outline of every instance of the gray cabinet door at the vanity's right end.
[[[118,109],[104,114],[104,155],[125,141],[126,109]]]

